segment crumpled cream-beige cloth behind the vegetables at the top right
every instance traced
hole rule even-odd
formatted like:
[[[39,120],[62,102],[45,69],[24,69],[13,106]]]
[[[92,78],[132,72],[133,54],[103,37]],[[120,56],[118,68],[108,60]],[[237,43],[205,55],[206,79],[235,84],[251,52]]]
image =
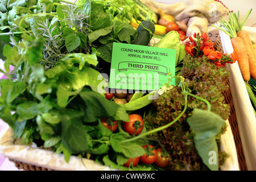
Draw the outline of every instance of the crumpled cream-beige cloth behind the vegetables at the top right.
[[[142,2],[156,14],[158,14],[158,8],[160,8],[164,13],[174,16],[178,21],[190,18],[187,24],[187,36],[191,36],[195,32],[200,34],[207,32],[209,23],[217,22],[221,16],[229,12],[220,2],[213,0],[187,0],[174,4],[160,3],[152,0],[142,0]]]

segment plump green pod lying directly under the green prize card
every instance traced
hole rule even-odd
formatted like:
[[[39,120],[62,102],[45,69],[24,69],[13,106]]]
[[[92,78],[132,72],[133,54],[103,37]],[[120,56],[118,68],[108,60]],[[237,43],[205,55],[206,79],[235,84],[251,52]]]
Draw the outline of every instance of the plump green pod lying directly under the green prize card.
[[[151,104],[154,99],[158,97],[158,92],[152,91],[148,93],[146,96],[138,98],[137,100],[130,101],[124,105],[126,111],[133,111],[133,110],[138,110],[141,109],[148,104]]]

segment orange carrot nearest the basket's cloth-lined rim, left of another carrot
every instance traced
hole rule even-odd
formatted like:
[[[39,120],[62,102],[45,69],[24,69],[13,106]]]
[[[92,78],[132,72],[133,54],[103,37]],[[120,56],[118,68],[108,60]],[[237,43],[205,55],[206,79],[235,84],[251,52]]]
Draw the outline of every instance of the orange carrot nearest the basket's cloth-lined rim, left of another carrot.
[[[231,39],[231,43],[234,51],[237,52],[238,55],[238,66],[240,68],[243,80],[250,80],[250,69],[249,69],[249,56],[247,55],[247,51],[245,48],[245,43],[240,37],[234,37]]]

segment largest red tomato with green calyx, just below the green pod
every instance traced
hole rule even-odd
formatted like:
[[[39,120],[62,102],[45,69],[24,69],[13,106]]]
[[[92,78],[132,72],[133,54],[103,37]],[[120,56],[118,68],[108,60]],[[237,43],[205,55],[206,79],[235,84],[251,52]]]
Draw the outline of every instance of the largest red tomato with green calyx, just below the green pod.
[[[130,122],[123,122],[123,129],[130,135],[133,135],[136,130],[136,127],[138,127],[135,135],[140,134],[144,126],[142,117],[138,114],[131,114],[129,115],[129,118]]]

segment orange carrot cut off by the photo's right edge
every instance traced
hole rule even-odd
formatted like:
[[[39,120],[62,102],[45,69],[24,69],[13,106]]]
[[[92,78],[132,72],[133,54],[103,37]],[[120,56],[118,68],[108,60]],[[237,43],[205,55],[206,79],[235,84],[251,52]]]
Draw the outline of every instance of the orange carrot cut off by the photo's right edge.
[[[250,36],[245,30],[238,31],[237,36],[242,38],[243,43],[245,43],[245,48],[249,57],[250,75],[252,78],[256,79],[256,53],[253,48],[253,43],[251,43]]]

